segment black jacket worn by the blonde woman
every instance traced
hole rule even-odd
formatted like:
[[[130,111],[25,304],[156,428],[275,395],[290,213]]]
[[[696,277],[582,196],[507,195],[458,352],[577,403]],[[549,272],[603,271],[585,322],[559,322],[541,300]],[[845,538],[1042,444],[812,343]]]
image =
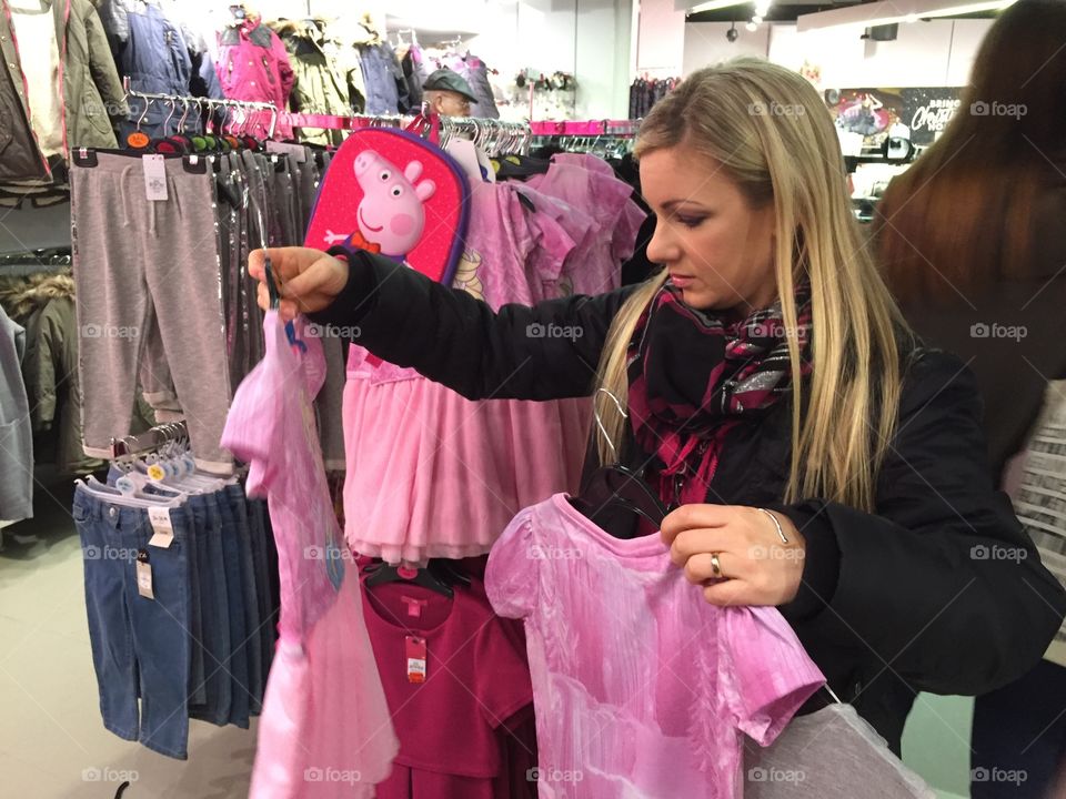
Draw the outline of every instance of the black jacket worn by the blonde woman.
[[[552,400],[592,393],[611,320],[631,291],[493,313],[359,253],[346,287],[314,320],[358,326],[373,354],[465,397]],[[580,335],[544,335],[550,325]],[[915,351],[908,364],[876,515],[817,498],[782,504],[784,403],[732,429],[707,496],[781,509],[803,532],[804,585],[780,609],[837,696],[896,752],[917,691],[975,695],[1014,680],[1066,614],[1066,593],[993,487],[973,375],[943,352]]]

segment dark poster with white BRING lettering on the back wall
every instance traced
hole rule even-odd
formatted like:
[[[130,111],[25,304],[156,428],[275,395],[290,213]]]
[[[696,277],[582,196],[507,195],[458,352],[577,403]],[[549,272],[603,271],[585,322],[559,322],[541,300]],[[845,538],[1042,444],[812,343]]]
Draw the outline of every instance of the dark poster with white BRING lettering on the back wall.
[[[881,150],[887,136],[928,146],[944,130],[962,102],[962,87],[911,89],[827,89],[825,103],[842,141],[863,153]],[[858,155],[858,152],[848,153]]]

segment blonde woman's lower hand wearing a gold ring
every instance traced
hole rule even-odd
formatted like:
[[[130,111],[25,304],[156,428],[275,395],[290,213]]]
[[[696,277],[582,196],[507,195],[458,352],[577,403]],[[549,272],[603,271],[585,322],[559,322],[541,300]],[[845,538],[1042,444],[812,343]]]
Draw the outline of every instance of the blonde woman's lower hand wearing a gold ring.
[[[663,519],[670,559],[712,605],[784,605],[800,590],[806,542],[784,514],[742,505],[682,505]],[[717,556],[720,575],[715,575]]]

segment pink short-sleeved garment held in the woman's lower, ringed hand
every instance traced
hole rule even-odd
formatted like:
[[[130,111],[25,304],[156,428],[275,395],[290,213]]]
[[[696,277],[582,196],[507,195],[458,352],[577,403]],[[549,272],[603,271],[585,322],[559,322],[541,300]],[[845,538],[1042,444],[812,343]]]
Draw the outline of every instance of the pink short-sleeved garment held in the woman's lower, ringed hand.
[[[525,619],[542,795],[735,799],[743,736],[767,746],[825,681],[775,608],[710,605],[657,535],[562,494],[514,518],[485,589]]]

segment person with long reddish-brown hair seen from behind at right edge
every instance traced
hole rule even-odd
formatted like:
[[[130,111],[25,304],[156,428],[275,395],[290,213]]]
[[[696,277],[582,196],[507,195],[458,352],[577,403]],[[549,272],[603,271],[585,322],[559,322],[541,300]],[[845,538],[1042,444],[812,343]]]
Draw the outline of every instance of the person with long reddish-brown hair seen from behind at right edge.
[[[958,112],[892,181],[875,221],[906,317],[976,377],[993,481],[1005,487],[1048,383],[1066,378],[1064,42],[1063,0],[1020,0],[1004,11]],[[1044,478],[1048,488],[1053,478]],[[1050,796],[1066,766],[1066,668],[1060,657],[1035,666],[975,702],[974,799]],[[1026,778],[986,778],[997,773]]]

